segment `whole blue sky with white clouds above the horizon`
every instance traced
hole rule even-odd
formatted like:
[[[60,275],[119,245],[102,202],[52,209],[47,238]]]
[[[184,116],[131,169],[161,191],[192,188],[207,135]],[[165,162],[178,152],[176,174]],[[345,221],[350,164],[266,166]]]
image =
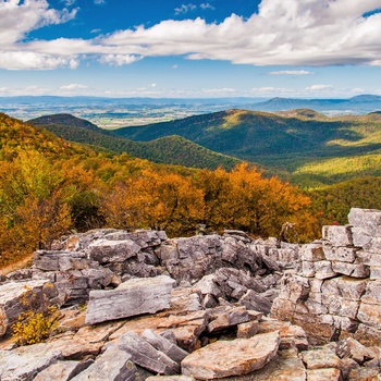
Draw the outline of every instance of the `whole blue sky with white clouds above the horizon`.
[[[0,96],[381,95],[381,0],[0,0]]]

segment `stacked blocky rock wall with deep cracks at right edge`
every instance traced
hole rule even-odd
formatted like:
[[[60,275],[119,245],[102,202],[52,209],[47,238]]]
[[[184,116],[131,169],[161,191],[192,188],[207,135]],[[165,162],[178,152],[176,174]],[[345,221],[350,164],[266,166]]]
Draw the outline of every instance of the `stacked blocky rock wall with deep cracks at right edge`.
[[[302,270],[283,279],[272,315],[299,324],[315,343],[349,335],[381,345],[381,211],[353,208],[348,220],[302,247]]]

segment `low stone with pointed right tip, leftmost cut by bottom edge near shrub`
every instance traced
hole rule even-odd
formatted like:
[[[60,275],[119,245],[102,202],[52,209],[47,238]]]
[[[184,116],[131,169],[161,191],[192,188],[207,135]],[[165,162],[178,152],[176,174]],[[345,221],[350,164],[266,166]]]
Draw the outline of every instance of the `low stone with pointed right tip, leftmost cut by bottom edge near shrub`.
[[[88,368],[94,361],[58,361],[38,372],[34,381],[69,381]]]

